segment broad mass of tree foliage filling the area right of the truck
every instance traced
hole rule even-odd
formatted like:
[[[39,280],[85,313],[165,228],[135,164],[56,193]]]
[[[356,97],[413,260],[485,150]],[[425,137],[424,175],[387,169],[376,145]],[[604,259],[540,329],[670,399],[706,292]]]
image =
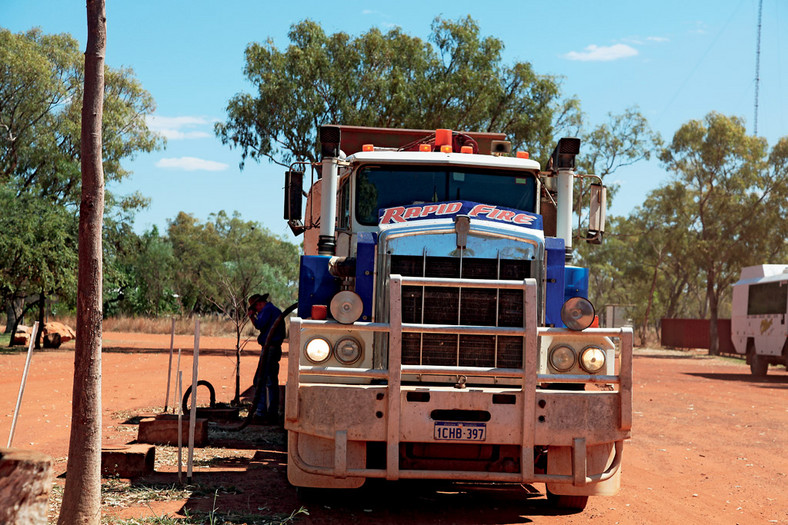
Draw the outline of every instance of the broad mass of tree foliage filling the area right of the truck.
[[[674,178],[614,223],[621,251],[605,258],[617,278],[606,286],[635,305],[639,324],[714,321],[742,267],[788,257],[788,138],[769,151],[741,119],[710,113],[659,157]]]

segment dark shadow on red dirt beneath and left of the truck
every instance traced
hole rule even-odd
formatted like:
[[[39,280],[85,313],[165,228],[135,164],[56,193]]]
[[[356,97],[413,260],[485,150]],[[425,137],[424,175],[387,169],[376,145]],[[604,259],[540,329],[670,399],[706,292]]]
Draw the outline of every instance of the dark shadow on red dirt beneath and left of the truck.
[[[195,471],[192,484],[197,490],[180,515],[209,518],[213,513],[250,524],[288,522],[290,517],[296,523],[320,524],[501,524],[569,513],[549,506],[533,487],[520,485],[370,480],[357,490],[298,491],[287,481],[284,430],[258,428],[281,436],[251,457],[217,458],[206,465],[209,469]],[[217,445],[222,446],[212,444]],[[145,482],[177,484],[177,474],[157,472]],[[298,514],[301,508],[308,516]]]

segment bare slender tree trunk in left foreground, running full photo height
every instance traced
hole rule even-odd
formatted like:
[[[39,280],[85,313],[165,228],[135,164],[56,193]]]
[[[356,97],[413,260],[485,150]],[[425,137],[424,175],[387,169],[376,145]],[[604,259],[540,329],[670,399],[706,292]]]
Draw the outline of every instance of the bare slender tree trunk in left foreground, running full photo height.
[[[59,525],[101,522],[101,227],[104,169],[101,121],[104,112],[104,0],[87,0],[85,95],[82,103],[82,199],[79,206],[77,340],[66,489]]]

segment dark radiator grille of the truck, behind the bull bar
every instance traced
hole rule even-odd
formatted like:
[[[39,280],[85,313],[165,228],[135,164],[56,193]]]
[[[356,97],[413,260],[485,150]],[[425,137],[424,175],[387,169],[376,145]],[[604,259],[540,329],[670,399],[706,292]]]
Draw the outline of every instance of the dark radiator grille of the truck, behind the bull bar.
[[[408,277],[523,280],[530,261],[392,255],[391,273]],[[402,322],[518,327],[522,290],[402,287]],[[402,364],[521,368],[523,339],[512,336],[403,334]]]

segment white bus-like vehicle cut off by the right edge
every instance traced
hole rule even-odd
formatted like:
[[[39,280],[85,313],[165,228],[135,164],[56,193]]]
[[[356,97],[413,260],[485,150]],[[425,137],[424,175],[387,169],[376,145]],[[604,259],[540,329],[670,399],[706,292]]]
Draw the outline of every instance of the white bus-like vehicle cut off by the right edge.
[[[733,285],[731,339],[744,354],[753,376],[770,364],[788,368],[788,264],[742,268]]]

